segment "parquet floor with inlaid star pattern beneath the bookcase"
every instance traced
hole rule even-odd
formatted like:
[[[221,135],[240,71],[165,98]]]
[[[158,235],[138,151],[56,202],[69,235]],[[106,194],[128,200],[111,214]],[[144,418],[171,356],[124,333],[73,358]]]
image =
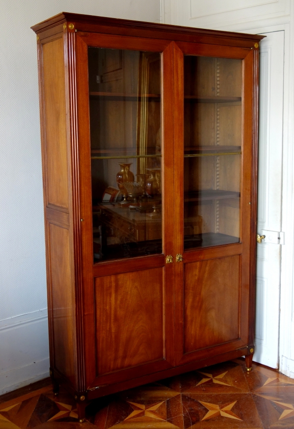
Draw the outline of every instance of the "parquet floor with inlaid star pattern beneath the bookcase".
[[[294,429],[294,379],[242,359],[101,398],[85,423],[64,390],[23,392],[0,397],[0,429]]]

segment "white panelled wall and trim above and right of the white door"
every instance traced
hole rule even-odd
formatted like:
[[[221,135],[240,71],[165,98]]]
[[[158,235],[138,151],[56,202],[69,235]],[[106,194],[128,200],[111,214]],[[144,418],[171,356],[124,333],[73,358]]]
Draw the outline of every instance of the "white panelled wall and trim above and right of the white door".
[[[280,370],[294,378],[294,0],[162,0],[162,22],[248,33],[284,31]],[[272,169],[269,174],[274,176]]]

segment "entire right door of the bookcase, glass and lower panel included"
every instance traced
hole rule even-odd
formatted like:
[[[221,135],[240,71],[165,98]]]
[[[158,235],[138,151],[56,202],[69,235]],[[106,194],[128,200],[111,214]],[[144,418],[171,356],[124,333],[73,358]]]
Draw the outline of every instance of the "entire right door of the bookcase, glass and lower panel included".
[[[249,341],[253,50],[178,43],[174,79],[175,332],[183,364]]]

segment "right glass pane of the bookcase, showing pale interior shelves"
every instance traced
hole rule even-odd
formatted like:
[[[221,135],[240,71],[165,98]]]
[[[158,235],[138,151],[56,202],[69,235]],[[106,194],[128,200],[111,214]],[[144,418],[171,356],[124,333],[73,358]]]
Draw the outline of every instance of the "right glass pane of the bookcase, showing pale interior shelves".
[[[238,243],[242,60],[184,58],[184,249]]]

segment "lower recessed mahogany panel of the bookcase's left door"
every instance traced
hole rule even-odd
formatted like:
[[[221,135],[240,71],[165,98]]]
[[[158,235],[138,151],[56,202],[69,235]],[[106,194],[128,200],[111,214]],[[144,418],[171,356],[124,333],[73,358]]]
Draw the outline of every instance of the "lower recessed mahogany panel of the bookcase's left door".
[[[163,269],[95,279],[97,375],[165,359]]]

